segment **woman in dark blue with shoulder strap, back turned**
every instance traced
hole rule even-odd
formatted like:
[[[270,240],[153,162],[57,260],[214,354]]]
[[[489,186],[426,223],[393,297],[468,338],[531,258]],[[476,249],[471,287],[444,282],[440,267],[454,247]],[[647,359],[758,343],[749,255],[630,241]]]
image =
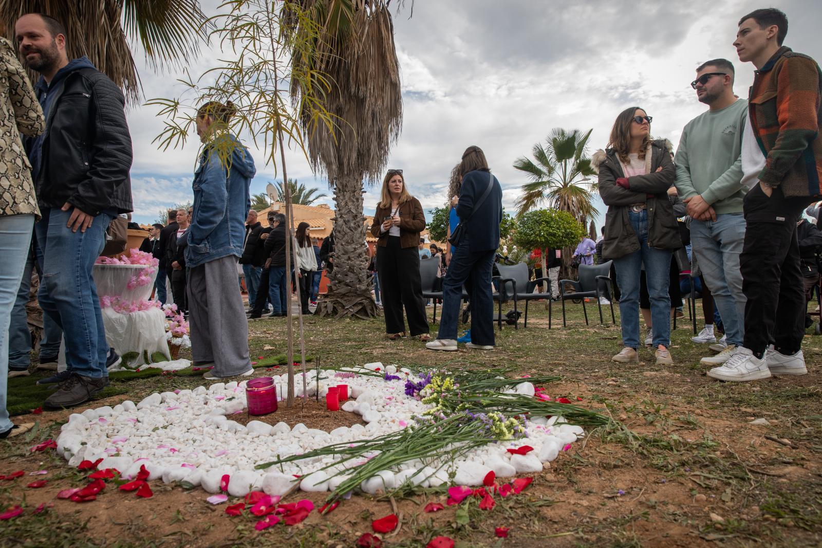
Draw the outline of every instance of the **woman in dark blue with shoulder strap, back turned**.
[[[436,341],[426,344],[429,350],[457,350],[457,320],[462,288],[471,286],[471,340],[465,346],[475,350],[493,350],[494,303],[492,267],[500,245],[502,221],[502,188],[488,169],[485,154],[478,146],[469,146],[461,158],[457,173],[462,176],[459,196],[451,197],[464,232],[451,248],[446,277],[442,281],[442,316]]]

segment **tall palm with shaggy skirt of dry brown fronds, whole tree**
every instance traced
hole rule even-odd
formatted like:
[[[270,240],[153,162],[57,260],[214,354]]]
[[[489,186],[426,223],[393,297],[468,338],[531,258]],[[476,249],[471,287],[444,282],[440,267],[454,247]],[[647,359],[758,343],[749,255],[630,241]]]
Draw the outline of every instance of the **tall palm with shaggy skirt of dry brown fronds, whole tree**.
[[[363,181],[381,179],[390,144],[399,137],[402,123],[389,2],[303,0],[302,7],[312,15],[295,22],[305,34],[320,30],[312,55],[294,56],[292,63],[327,77],[311,83],[326,85],[320,102],[335,118],[333,124],[317,124],[306,117],[302,124],[312,167],[327,174],[336,208],[335,268],[330,290],[317,309],[323,315],[378,314],[364,250]],[[306,82],[293,85],[295,104],[311,91]]]

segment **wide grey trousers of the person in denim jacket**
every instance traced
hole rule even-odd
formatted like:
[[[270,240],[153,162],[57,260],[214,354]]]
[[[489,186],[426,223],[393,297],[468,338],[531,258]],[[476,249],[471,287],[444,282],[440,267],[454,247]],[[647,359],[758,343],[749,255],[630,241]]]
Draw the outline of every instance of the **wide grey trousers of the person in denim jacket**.
[[[248,320],[237,286],[237,261],[229,255],[191,268],[188,274],[192,358],[214,362],[212,373],[217,377],[231,377],[251,367]]]

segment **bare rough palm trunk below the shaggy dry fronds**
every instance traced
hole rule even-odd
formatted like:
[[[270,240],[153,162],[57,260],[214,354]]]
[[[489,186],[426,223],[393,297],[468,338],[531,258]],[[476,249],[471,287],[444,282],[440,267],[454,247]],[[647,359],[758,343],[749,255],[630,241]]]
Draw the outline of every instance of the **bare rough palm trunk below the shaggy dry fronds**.
[[[367,273],[362,180],[360,174],[346,174],[335,180],[334,269],[329,273],[329,290],[317,306],[323,316],[366,319],[380,314]]]

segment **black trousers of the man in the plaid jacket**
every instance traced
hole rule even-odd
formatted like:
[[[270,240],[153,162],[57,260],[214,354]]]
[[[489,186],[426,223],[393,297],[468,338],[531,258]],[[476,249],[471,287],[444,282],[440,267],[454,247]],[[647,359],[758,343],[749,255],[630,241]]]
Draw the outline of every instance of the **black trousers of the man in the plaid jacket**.
[[[746,194],[745,242],[739,257],[745,293],[743,345],[761,358],[769,343],[777,351],[800,350],[805,334],[805,291],[799,267],[797,220],[810,197],[771,197],[757,184]]]

